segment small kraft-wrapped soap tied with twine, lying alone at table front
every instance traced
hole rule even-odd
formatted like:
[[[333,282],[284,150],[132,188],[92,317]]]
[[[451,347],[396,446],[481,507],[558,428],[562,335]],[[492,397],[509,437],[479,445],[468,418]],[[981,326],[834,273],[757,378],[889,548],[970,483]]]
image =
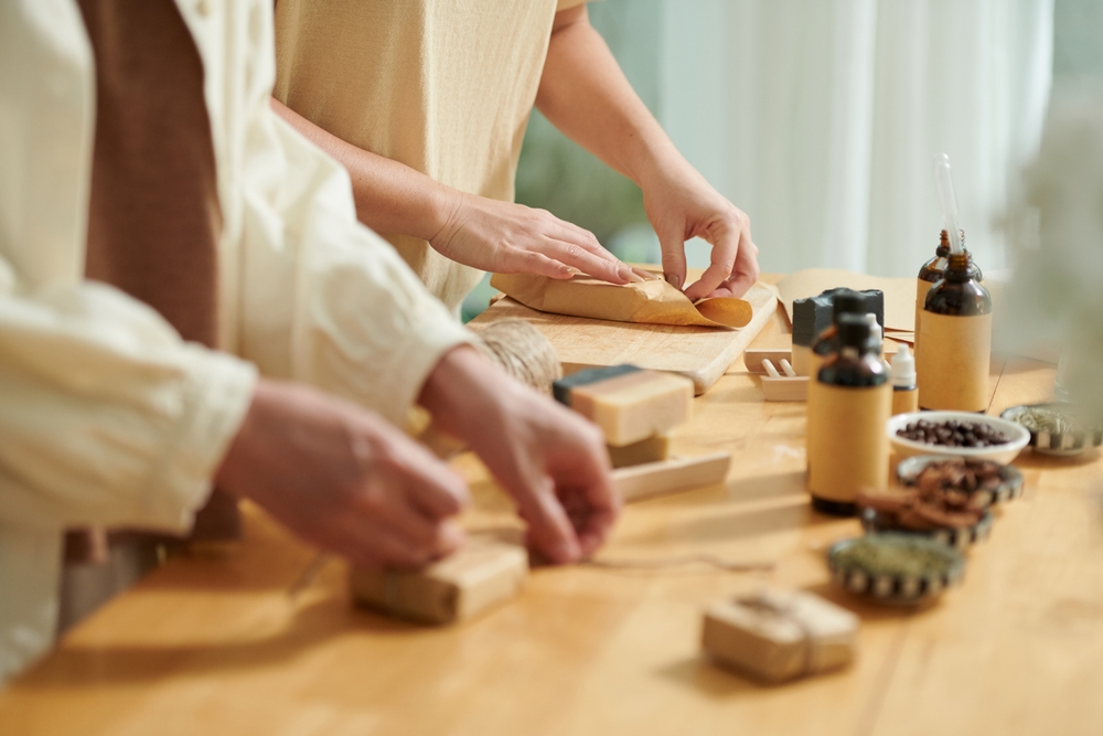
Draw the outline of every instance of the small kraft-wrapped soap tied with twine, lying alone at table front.
[[[783,682],[848,664],[857,631],[857,616],[820,596],[767,589],[710,606],[702,646],[721,663]]]

